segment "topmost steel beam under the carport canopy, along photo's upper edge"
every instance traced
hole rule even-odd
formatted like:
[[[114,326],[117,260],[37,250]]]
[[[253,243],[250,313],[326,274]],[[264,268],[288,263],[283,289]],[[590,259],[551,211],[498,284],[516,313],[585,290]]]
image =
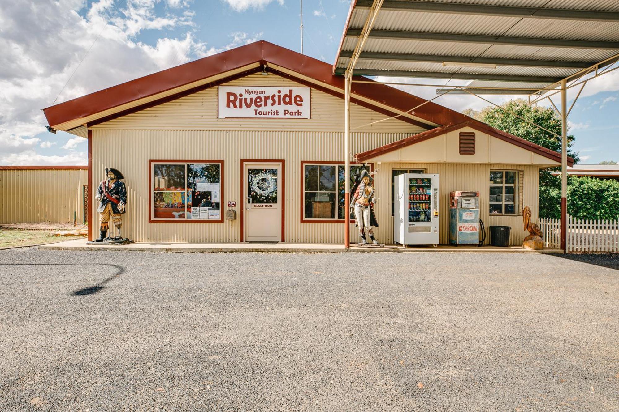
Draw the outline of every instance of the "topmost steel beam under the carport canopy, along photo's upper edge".
[[[367,9],[372,0],[357,0],[357,9]],[[474,14],[501,17],[526,17],[529,19],[589,20],[619,22],[619,12],[550,9],[547,7],[495,6],[493,4],[462,4],[455,2],[385,0],[384,11],[410,11],[445,14]]]

